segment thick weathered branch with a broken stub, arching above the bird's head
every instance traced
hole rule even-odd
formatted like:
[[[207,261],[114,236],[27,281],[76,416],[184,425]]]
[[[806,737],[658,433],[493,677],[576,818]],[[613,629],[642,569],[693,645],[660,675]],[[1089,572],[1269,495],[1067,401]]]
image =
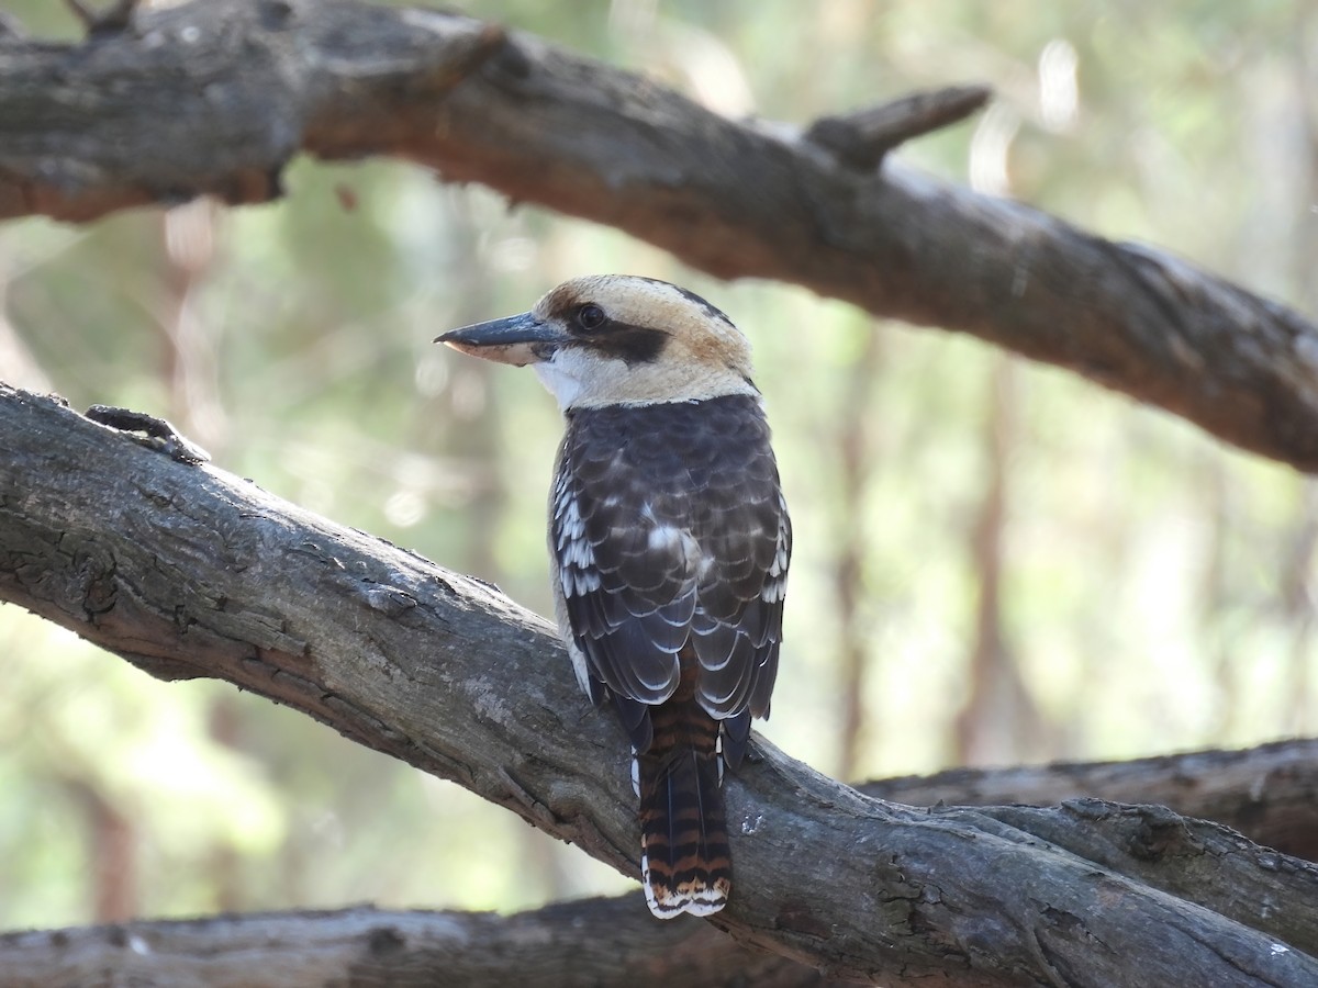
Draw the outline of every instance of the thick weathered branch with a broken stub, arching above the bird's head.
[[[720,277],[974,333],[1318,468],[1311,321],[1168,254],[870,167],[919,129],[731,121],[525,34],[347,0],[195,1],[75,46],[0,37],[0,217],[261,202],[298,153],[395,155]]]

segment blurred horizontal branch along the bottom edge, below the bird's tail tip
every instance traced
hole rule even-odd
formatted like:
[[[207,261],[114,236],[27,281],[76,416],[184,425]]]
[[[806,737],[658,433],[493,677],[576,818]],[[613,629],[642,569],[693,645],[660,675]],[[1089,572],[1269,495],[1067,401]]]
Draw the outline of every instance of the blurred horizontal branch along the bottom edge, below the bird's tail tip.
[[[0,985],[134,988],[716,988],[824,984],[699,921],[656,925],[639,894],[493,913],[252,913],[0,934]]]

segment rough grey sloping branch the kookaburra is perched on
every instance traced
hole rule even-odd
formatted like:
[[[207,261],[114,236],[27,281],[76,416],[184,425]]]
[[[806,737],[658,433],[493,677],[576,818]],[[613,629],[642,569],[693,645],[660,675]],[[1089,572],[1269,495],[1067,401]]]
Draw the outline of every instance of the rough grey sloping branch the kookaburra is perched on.
[[[637,873],[626,740],[543,619],[159,447],[0,389],[0,598]],[[745,945],[891,985],[1318,980],[1318,868],[1218,825],[1095,800],[919,810],[758,748],[728,784],[738,881],[712,921]]]

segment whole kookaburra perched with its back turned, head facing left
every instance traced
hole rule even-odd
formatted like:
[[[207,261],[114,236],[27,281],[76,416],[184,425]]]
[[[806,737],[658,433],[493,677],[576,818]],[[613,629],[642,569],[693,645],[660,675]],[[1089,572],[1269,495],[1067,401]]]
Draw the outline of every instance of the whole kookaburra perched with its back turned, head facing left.
[[[700,295],[621,274],[435,343],[530,365],[558,399],[559,630],[631,742],[650,912],[717,913],[733,877],[724,768],[768,717],[792,552],[750,343]]]

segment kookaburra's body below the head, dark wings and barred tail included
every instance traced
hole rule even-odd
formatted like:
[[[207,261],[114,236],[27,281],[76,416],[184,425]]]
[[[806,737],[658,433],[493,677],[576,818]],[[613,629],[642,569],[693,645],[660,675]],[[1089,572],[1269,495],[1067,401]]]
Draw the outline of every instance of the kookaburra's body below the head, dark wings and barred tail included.
[[[791,528],[759,400],[568,415],[551,505],[560,622],[638,752],[651,909],[720,909],[720,781],[768,710]]]

